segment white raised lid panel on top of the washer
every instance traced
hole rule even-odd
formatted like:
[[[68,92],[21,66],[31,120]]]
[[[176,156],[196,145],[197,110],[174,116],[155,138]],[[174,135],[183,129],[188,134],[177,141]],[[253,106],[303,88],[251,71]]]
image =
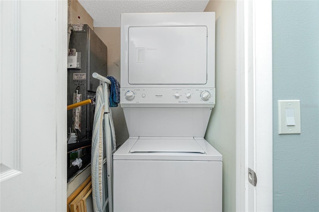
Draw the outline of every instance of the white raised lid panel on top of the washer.
[[[130,153],[135,152],[189,152],[202,153],[205,151],[193,138],[148,138],[137,140]]]

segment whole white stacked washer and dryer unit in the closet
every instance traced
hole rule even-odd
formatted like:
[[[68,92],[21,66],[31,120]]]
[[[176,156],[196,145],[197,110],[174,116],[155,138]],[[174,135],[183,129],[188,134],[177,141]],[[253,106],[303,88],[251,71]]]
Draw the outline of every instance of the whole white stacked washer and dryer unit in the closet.
[[[121,15],[115,212],[222,211],[222,155],[203,137],[215,105],[215,13]]]

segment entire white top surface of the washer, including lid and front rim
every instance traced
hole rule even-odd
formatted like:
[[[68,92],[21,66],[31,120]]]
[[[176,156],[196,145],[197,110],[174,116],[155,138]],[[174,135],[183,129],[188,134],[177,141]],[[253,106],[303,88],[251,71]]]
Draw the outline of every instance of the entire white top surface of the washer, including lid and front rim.
[[[222,155],[202,137],[129,137],[114,160],[222,161]]]

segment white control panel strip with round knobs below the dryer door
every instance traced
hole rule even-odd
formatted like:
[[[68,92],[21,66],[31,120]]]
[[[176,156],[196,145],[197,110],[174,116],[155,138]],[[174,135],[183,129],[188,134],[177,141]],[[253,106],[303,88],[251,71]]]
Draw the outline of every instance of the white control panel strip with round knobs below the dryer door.
[[[215,89],[121,88],[121,104],[215,104]]]

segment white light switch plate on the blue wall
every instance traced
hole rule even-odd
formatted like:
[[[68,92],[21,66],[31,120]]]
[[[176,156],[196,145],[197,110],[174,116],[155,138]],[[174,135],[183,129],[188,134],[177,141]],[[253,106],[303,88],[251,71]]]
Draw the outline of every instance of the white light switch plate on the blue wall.
[[[278,134],[300,134],[300,120],[300,100],[278,100]]]

